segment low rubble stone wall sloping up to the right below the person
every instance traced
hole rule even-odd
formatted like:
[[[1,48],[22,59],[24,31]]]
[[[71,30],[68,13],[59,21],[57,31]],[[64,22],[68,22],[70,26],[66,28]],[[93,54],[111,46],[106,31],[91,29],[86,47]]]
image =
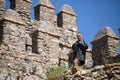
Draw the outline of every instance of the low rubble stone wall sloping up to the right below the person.
[[[95,66],[75,74],[67,74],[64,80],[120,80],[120,63]]]

